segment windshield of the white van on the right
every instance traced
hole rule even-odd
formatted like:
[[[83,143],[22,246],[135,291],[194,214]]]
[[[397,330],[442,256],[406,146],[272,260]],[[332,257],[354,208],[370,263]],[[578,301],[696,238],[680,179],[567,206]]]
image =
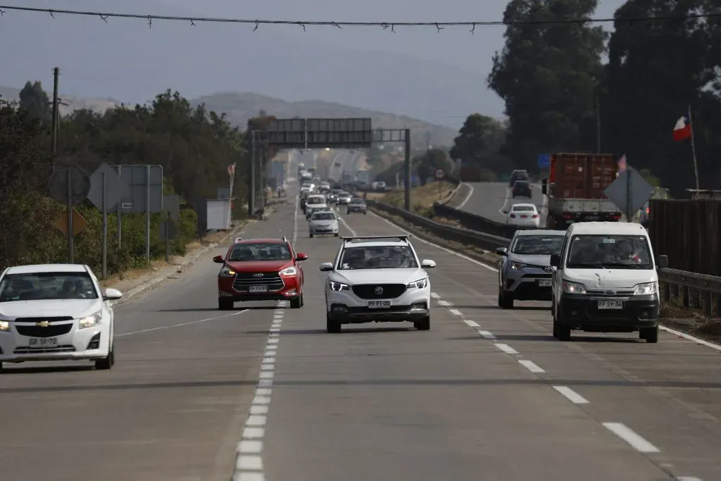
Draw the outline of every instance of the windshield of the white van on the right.
[[[653,269],[644,236],[576,235],[571,239],[566,267],[571,269]]]

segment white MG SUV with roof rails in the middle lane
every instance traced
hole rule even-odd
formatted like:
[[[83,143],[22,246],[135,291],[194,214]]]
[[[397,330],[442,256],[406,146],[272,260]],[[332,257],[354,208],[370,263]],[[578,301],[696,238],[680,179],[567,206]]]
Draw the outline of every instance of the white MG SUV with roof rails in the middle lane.
[[[417,330],[430,329],[430,280],[424,269],[433,260],[418,260],[405,235],[342,237],[325,283],[328,332],[343,324],[412,322]]]

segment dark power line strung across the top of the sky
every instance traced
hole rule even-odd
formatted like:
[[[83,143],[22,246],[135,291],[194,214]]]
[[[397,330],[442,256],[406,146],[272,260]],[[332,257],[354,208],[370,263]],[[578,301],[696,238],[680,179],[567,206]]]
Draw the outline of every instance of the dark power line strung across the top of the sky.
[[[343,27],[381,27],[383,30],[390,30],[395,33],[396,27],[435,27],[437,32],[446,27],[472,27],[470,33],[475,32],[476,27],[508,26],[508,25],[585,25],[590,23],[613,23],[613,22],[653,22],[663,20],[690,20],[690,19],[712,19],[721,18],[721,12],[707,14],[688,15],[656,15],[650,17],[606,17],[606,18],[561,18],[561,19],[539,19],[539,20],[504,20],[477,21],[477,22],[330,22],[318,20],[262,20],[262,19],[239,19],[226,17],[179,17],[176,15],[152,15],[152,14],[128,14],[118,12],[88,12],[84,10],[60,10],[60,9],[39,9],[31,6],[6,6],[0,5],[0,17],[6,11],[33,12],[49,14],[53,19],[56,14],[66,14],[82,17],[99,17],[107,23],[110,18],[143,19],[148,22],[148,27],[153,26],[154,20],[169,20],[173,22],[188,22],[195,26],[196,23],[234,23],[254,25],[253,31],[258,30],[260,25],[297,25],[306,30],[306,27],[336,27],[342,30]]]

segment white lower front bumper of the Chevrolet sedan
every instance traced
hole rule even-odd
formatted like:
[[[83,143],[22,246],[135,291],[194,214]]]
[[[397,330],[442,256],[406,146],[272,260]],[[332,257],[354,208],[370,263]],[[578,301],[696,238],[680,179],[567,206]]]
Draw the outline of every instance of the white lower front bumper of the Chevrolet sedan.
[[[69,332],[47,337],[20,335],[12,324],[9,332],[0,332],[0,362],[72,361],[107,357],[110,351],[110,326],[99,325],[79,330],[77,320],[72,321],[72,324]]]

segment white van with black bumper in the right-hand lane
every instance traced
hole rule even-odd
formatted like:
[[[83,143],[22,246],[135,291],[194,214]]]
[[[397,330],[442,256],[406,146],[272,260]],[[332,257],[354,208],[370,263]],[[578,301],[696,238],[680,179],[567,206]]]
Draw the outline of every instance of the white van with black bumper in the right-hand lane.
[[[658,343],[658,274],[668,257],[654,262],[641,224],[578,222],[566,232],[560,254],[551,256],[553,335],[571,330],[640,332]]]

